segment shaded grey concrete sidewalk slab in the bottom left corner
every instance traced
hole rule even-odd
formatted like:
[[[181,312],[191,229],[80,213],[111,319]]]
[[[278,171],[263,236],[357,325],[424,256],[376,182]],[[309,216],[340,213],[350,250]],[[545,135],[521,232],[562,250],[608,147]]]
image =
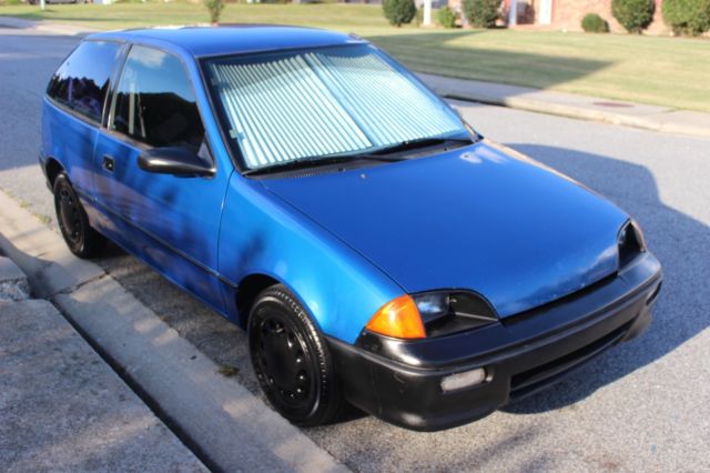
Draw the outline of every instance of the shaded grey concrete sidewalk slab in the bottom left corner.
[[[28,292],[22,271],[0,256],[2,470],[206,471],[57,309]]]

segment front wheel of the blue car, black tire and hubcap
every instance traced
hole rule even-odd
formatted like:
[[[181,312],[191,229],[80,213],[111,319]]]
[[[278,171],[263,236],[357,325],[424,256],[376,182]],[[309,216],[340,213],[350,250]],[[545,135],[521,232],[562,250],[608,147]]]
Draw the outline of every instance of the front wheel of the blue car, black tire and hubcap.
[[[346,405],[323,335],[282,284],[263,291],[248,320],[252,365],[268,402],[301,426],[334,422]]]

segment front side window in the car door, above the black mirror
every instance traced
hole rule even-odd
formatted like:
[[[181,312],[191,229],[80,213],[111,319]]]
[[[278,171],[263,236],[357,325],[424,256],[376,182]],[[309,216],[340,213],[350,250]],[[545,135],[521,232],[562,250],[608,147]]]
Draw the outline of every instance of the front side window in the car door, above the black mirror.
[[[151,147],[200,147],[204,128],[180,59],[152,48],[131,48],[111,129]]]

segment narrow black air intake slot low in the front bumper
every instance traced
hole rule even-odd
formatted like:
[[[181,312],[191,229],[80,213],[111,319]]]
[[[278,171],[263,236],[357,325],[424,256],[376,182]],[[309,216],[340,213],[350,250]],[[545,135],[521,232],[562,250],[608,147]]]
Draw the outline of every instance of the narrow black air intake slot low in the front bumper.
[[[559,381],[584,362],[616,345],[626,335],[633,321],[629,321],[587,346],[514,375],[510,379],[510,400],[525,397]]]

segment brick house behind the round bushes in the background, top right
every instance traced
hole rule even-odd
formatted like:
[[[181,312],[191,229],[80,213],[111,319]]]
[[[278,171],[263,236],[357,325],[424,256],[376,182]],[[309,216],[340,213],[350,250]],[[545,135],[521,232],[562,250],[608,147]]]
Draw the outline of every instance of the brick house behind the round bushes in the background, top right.
[[[508,18],[513,0],[504,0],[504,16]],[[656,0],[653,22],[650,33],[668,31],[661,17],[661,3]],[[448,0],[449,7],[460,11],[460,0]],[[556,30],[580,31],[581,19],[587,13],[598,13],[609,22],[611,31],[622,32],[623,28],[611,16],[611,0],[516,0],[518,24],[549,26]]]

